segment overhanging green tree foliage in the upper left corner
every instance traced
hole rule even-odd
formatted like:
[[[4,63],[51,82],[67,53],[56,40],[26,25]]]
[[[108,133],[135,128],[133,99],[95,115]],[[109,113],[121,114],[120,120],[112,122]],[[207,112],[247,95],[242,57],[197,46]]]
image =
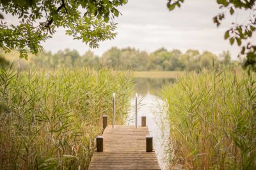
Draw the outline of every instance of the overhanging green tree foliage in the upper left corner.
[[[125,3],[127,0],[0,0],[0,10],[19,20],[19,24],[1,20],[0,48],[6,52],[19,49],[20,58],[28,59],[26,48],[33,54],[43,50],[41,43],[52,38],[57,27],[96,48],[100,41],[116,36],[112,20],[120,15],[116,8]]]

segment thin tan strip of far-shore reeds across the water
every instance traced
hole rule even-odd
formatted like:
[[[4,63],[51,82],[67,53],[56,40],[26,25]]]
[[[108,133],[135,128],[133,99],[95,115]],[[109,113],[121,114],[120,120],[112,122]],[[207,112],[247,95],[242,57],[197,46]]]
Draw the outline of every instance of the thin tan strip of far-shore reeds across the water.
[[[157,72],[157,71],[149,71],[149,72],[134,72],[134,77],[136,78],[162,78],[168,79],[173,78],[176,79],[179,75],[182,75],[184,72],[179,71],[170,71],[170,72]]]

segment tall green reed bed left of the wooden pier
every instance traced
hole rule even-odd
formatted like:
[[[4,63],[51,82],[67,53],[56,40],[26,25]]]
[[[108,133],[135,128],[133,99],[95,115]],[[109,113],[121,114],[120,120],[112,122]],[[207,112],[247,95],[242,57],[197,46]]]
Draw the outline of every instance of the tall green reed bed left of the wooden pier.
[[[124,124],[132,75],[106,68],[0,72],[0,169],[88,169],[102,115]],[[109,121],[110,123],[110,121]]]

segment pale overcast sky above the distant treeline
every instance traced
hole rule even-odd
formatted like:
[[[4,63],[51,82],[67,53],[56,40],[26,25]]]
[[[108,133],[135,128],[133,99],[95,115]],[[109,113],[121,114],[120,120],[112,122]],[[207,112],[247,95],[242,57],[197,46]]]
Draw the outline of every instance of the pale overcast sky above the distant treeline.
[[[164,47],[182,52],[188,49],[209,50],[215,54],[230,50],[232,58],[236,58],[239,47],[230,46],[223,35],[231,22],[248,19],[248,12],[236,13],[234,17],[227,15],[225,22],[217,28],[212,22],[212,17],[221,12],[216,0],[186,0],[180,9],[172,12],[168,11],[166,0],[128,0],[118,10],[122,13],[115,20],[118,35],[115,40],[101,42],[99,49],[93,49],[97,55],[113,46],[135,47],[147,52]],[[81,41],[65,35],[64,29],[58,29],[52,39],[42,44],[45,50],[52,52],[69,48],[83,54],[90,49]]]

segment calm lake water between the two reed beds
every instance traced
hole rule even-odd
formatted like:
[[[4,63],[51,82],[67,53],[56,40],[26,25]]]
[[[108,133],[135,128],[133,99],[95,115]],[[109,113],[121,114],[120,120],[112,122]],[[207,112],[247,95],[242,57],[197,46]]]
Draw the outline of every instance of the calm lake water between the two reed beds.
[[[147,126],[150,135],[153,136],[154,150],[156,151],[157,159],[161,169],[166,169],[164,163],[164,139],[168,137],[170,128],[164,125],[163,130],[163,114],[159,107],[163,107],[164,102],[161,100],[161,88],[165,84],[173,83],[174,79],[135,79],[135,92],[138,93],[140,104],[138,105],[138,125],[141,125],[141,116],[147,116]],[[127,121],[128,125],[134,125],[135,122],[135,95],[131,100],[131,111]]]

